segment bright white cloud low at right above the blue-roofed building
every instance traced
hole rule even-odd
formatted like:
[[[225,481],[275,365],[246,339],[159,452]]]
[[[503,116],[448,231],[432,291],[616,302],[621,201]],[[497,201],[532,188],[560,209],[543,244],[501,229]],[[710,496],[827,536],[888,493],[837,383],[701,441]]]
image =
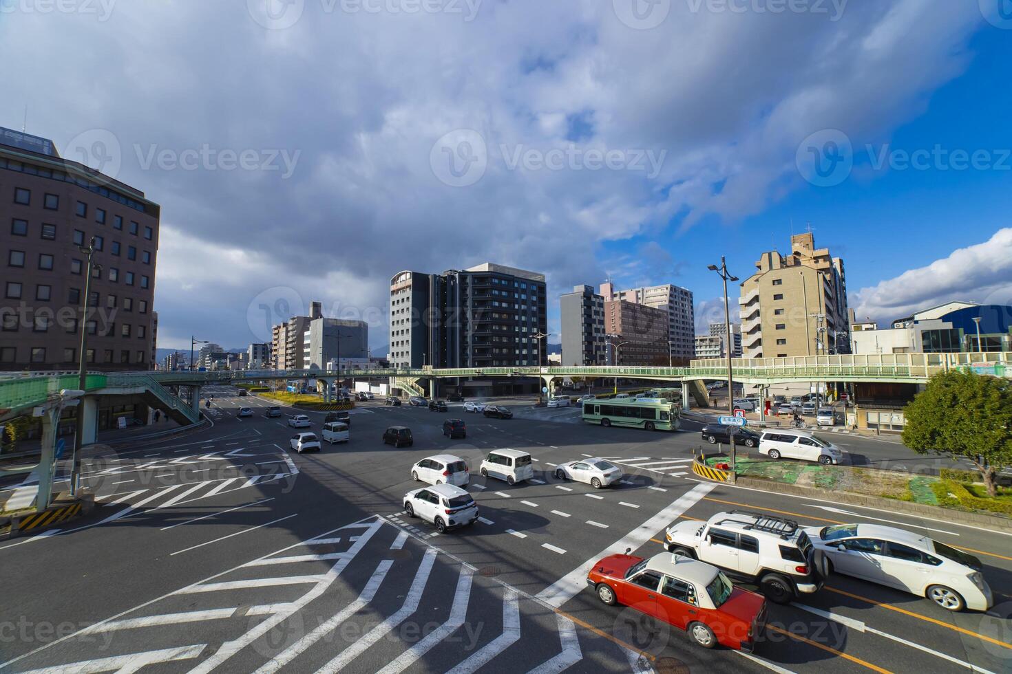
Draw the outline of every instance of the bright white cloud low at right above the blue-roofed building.
[[[1012,305],[1012,227],[926,267],[861,288],[851,305],[858,318],[889,321],[953,300]]]

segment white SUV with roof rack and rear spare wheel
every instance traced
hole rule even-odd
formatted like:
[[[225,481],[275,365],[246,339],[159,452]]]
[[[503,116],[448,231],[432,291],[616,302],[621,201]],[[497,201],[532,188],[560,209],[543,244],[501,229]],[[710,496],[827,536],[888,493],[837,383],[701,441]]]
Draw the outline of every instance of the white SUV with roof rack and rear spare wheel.
[[[666,541],[668,552],[755,583],[776,603],[788,603],[823,585],[823,553],[793,519],[747,510],[718,512],[701,525],[695,520],[675,522]]]

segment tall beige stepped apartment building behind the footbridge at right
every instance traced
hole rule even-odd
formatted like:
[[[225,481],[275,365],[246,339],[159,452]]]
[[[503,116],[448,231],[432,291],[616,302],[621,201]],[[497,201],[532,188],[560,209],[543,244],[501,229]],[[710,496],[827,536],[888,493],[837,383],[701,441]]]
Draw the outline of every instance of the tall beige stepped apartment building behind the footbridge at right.
[[[812,232],[790,237],[790,254],[763,253],[741,286],[746,358],[845,352],[850,342],[843,260],[816,249]]]

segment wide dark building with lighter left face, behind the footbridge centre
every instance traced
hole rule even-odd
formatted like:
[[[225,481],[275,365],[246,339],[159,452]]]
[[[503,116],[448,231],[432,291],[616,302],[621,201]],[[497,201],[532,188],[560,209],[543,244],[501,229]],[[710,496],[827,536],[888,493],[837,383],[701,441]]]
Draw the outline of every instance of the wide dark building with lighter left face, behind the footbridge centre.
[[[544,275],[485,263],[391,278],[391,367],[509,367],[547,362]]]

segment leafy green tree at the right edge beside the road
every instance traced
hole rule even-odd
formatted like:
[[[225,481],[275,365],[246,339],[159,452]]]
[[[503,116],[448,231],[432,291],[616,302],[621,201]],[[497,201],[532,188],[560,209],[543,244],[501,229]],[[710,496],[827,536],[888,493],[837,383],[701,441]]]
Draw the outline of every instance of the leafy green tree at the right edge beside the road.
[[[904,412],[907,447],[969,460],[988,495],[997,494],[995,478],[1012,466],[1012,381],[972,372],[935,375]]]

